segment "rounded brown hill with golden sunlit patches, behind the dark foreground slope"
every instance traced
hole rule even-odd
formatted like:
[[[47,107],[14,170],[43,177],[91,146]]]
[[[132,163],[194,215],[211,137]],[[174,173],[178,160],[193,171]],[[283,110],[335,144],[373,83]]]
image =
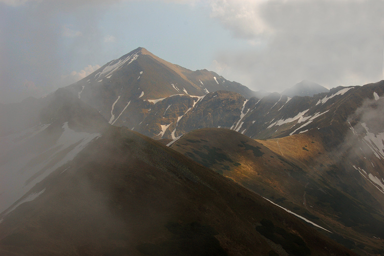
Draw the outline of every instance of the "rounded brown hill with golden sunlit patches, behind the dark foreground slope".
[[[358,253],[382,246],[373,238],[384,226],[380,198],[358,172],[339,167],[317,130],[254,141],[227,129],[201,129],[170,147],[331,230],[331,238]]]

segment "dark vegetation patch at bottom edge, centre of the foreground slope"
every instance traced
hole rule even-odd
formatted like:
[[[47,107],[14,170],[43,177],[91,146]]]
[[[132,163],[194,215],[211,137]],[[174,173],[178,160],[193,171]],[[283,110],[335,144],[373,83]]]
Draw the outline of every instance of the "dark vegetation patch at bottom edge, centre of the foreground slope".
[[[198,222],[179,224],[168,222],[165,227],[173,234],[173,237],[160,244],[145,243],[137,246],[143,255],[216,255],[227,256],[227,252],[221,247],[219,240],[214,236],[218,232]]]

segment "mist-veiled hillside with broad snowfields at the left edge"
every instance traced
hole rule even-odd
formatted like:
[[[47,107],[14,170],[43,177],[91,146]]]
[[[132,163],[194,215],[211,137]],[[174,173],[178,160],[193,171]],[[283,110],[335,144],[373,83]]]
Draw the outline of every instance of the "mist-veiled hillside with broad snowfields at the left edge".
[[[71,161],[108,122],[65,89],[0,109],[0,212]],[[11,117],[11,118],[9,118]]]

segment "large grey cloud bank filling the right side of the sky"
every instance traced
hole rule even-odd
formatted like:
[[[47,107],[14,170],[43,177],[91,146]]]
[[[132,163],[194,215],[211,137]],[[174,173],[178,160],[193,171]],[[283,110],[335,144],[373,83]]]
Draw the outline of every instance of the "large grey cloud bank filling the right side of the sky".
[[[211,16],[253,50],[218,52],[232,80],[282,91],[303,79],[326,87],[382,79],[384,2],[215,0]],[[230,70],[230,71],[229,71]]]

